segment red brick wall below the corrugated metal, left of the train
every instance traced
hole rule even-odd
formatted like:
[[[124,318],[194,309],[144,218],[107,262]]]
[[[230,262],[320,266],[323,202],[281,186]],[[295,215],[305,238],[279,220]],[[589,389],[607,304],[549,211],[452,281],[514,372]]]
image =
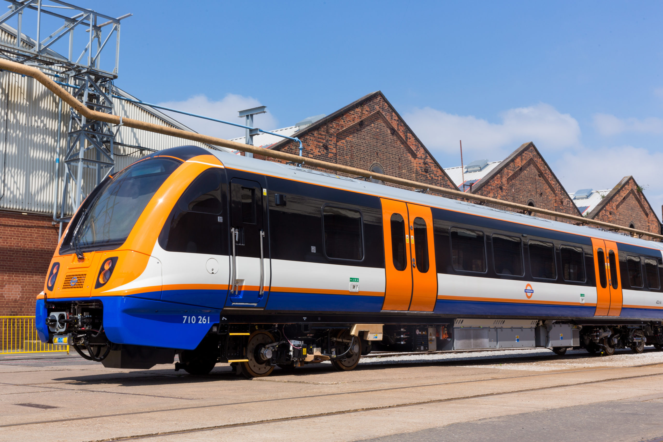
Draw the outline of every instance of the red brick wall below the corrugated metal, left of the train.
[[[0,315],[34,315],[57,245],[49,216],[0,211]]]

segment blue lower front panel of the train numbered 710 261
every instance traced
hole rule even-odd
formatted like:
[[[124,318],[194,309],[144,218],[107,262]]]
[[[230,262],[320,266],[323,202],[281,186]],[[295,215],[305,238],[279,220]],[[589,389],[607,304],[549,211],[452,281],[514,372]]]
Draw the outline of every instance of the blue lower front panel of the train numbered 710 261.
[[[193,350],[219,321],[219,309],[109,296],[103,302],[103,329],[113,343]]]

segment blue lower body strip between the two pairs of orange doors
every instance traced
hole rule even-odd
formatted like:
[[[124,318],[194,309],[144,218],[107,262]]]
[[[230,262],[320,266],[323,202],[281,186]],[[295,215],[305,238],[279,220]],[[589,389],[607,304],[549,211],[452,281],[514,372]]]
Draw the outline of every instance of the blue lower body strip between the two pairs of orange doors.
[[[521,304],[518,302],[487,302],[438,300],[434,313],[444,315],[530,316],[530,317],[593,317],[594,305]]]

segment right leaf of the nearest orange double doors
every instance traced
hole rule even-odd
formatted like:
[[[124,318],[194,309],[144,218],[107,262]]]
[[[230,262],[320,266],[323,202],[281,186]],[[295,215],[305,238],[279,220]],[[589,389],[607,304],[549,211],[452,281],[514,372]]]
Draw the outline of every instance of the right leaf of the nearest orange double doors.
[[[408,203],[412,261],[412,311],[433,311],[438,298],[433,215],[430,207]]]

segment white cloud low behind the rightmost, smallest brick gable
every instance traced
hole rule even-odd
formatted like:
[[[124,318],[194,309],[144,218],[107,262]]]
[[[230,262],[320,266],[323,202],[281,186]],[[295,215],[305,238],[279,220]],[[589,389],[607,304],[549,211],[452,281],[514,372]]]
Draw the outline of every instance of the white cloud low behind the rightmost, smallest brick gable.
[[[644,195],[660,219],[663,204],[660,164],[663,164],[663,152],[651,152],[645,148],[581,148],[562,154],[554,171],[568,192],[586,188],[612,189],[622,178],[633,175],[645,188]]]

